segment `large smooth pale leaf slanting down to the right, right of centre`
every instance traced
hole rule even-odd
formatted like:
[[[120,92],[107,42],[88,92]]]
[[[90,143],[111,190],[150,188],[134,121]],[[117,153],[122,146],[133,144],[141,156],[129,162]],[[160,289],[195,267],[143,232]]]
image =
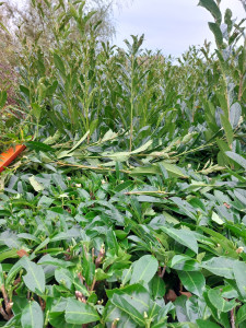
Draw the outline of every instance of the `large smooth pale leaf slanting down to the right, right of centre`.
[[[162,226],[161,229],[165,234],[171,236],[173,239],[175,239],[179,244],[190,248],[196,254],[198,254],[198,244],[192,232],[188,230],[177,230],[177,229],[172,229],[166,226]]]

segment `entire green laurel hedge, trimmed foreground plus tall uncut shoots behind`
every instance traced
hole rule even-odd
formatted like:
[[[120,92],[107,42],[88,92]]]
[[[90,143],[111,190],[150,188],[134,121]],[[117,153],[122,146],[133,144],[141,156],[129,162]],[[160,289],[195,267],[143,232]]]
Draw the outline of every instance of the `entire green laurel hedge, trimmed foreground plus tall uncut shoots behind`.
[[[27,56],[23,40],[28,150],[0,177],[1,325],[244,327],[243,22],[200,1],[218,48],[174,63],[143,36],[99,43],[93,12],[59,2],[52,47]]]

